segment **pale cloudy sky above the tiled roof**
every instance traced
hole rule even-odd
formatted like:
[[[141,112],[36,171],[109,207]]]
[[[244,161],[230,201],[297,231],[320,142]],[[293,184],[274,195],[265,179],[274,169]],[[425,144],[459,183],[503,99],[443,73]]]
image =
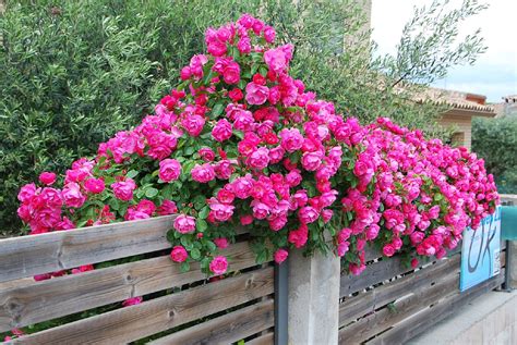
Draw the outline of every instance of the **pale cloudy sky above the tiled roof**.
[[[413,7],[432,0],[372,0],[372,38],[380,53],[394,53]],[[462,0],[450,0],[459,8]],[[489,102],[501,102],[503,96],[517,95],[517,0],[485,0],[489,9],[459,26],[466,35],[481,28],[488,50],[473,65],[457,66],[435,87],[486,96]]]

